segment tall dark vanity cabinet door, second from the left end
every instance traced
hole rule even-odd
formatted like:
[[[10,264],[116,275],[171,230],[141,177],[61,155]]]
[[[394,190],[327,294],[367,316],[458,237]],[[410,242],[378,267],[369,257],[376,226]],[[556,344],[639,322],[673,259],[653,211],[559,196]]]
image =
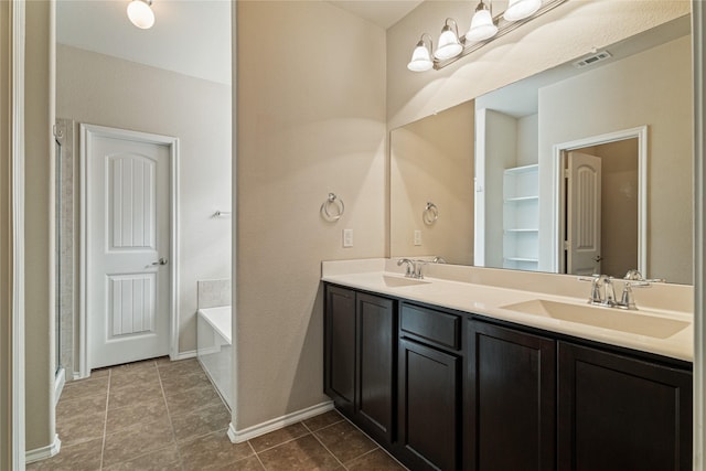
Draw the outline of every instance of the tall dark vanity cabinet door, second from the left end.
[[[394,301],[357,293],[359,382],[355,413],[373,438],[391,442],[393,430]]]

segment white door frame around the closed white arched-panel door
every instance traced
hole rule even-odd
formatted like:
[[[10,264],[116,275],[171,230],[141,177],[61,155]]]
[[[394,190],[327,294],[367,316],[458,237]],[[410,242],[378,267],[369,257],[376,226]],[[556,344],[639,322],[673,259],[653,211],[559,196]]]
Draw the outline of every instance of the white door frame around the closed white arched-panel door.
[[[81,148],[79,159],[79,277],[78,277],[78,374],[79,378],[90,376],[90,349],[88,335],[90,320],[87,314],[90,297],[88,272],[88,254],[90,238],[88,237],[88,175],[90,174],[90,156],[95,138],[108,137],[132,140],[169,147],[169,356],[174,360],[179,355],[179,138],[152,135],[127,129],[109,128],[105,126],[79,124]]]

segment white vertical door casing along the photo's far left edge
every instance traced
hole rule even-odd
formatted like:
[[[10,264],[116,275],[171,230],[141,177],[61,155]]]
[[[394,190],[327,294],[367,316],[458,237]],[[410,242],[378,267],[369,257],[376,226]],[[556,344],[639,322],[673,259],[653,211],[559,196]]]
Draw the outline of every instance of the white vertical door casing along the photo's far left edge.
[[[0,469],[25,464],[24,322],[24,46],[20,1],[0,2]],[[35,84],[34,84],[35,85]],[[29,87],[31,88],[31,86]],[[32,90],[33,92],[33,90]],[[31,124],[29,128],[32,129]]]

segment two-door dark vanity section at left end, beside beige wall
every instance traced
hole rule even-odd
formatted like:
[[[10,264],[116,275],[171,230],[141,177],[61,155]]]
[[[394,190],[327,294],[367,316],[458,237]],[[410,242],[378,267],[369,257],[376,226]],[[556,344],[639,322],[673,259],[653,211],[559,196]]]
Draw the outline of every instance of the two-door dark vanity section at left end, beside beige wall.
[[[374,439],[394,432],[396,301],[325,288],[324,392]]]

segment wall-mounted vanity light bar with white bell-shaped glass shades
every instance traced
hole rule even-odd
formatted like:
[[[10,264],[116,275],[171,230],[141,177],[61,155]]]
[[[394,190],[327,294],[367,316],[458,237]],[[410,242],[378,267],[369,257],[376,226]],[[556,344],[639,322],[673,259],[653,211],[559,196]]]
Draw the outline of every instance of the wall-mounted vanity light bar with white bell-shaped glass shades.
[[[434,55],[429,54],[434,49],[431,39],[427,33],[424,33],[411,54],[411,61],[407,64],[407,68],[413,72],[425,72],[430,68],[441,69],[568,0],[510,0],[505,11],[495,17],[492,15],[493,0],[478,1],[466,35],[459,38],[456,20],[447,18]],[[425,43],[425,38],[429,38],[428,46]]]

